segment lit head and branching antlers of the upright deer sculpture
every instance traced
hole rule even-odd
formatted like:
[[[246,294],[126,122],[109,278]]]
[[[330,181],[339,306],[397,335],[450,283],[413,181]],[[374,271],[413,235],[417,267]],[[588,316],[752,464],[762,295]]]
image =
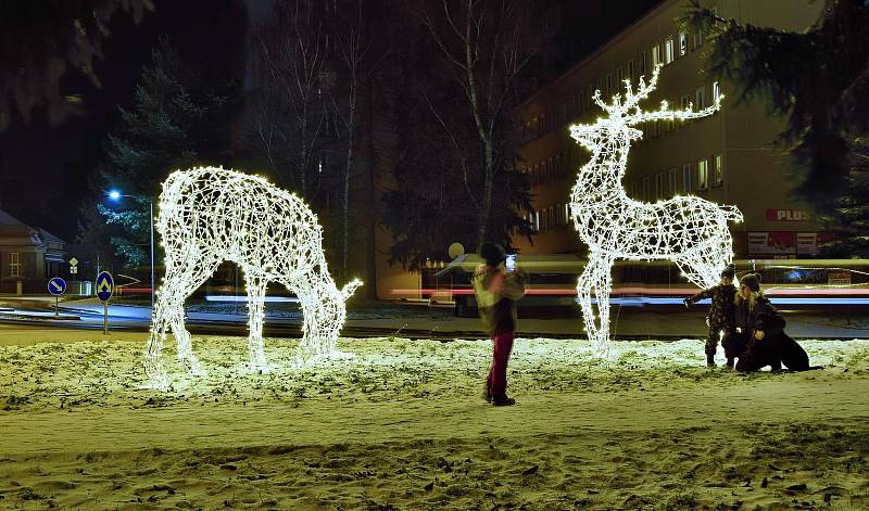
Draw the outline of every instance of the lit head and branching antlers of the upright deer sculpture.
[[[720,108],[723,95],[716,98],[714,105],[698,112],[693,111],[693,104],[689,104],[685,110],[671,111],[668,110],[666,101],[660,102],[659,111],[644,112],[640,107],[640,102],[655,90],[658,84],[659,73],[660,66],[658,65],[655,67],[654,73],[652,73],[652,79],[648,84],[645,82],[645,77],[641,76],[640,85],[635,93],[631,80],[625,80],[625,95],[615,94],[610,103],[604,103],[601,99],[601,91],[595,90],[592,99],[597,106],[609,115],[599,118],[597,122],[592,125],[570,126],[570,137],[576,139],[577,142],[592,153],[601,151],[601,149],[607,144],[617,144],[621,148],[627,148],[630,145],[631,141],[643,137],[643,132],[635,128],[640,123],[659,119],[687,120],[711,115]]]

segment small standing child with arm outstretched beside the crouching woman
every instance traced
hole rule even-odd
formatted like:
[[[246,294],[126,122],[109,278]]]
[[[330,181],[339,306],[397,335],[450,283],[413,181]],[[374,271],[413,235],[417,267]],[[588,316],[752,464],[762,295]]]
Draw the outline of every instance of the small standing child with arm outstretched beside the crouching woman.
[[[736,288],[733,286],[733,266],[728,266],[721,270],[721,282],[707,290],[703,290],[694,296],[684,299],[685,307],[691,307],[704,298],[711,299],[709,314],[706,316],[706,325],[709,333],[706,336],[706,367],[715,367],[715,352],[718,349],[718,340],[721,338],[721,346],[725,348],[727,366],[732,368],[733,360],[742,353],[739,346],[731,342],[735,325],[733,323],[733,306],[736,298]],[[722,334],[723,332],[723,334]]]

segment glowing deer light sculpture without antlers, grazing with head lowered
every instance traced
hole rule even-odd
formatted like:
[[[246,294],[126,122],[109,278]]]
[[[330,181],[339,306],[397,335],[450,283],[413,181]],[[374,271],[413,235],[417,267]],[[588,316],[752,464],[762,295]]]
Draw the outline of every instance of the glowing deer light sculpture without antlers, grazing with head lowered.
[[[295,194],[259,176],[224,168],[178,170],[163,182],[155,227],[165,247],[166,277],[156,295],[146,373],[159,388],[168,386],[161,352],[166,330],[178,342],[178,360],[203,373],[185,329],[185,299],[224,260],[239,265],[248,290],[252,369],[265,367],[263,317],[266,284],[279,282],[302,306],[300,360],[329,355],[344,323],[344,302],[362,285],[354,279],[339,290],[326,267],[323,229]]]

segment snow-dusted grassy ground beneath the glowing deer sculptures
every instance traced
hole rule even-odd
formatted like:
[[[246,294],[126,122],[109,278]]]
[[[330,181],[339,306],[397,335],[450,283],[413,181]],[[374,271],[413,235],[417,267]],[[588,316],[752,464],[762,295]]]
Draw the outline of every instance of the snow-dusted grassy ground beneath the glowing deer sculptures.
[[[342,338],[293,369],[295,341],[268,338],[261,374],[243,338],[198,336],[207,376],[161,393],[144,340],[0,329],[0,508],[869,507],[867,340],[742,375],[703,367],[700,340],[607,362],[520,338],[507,408],[481,399],[482,341]]]

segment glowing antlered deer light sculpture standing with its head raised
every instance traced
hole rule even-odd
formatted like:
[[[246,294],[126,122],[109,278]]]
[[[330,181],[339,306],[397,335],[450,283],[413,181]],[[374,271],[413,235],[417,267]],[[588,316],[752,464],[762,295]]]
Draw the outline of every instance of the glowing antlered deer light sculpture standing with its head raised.
[[[721,206],[687,195],[647,203],[630,199],[621,179],[631,142],[642,138],[635,126],[644,122],[688,120],[705,117],[721,106],[693,112],[693,105],[671,111],[667,102],[657,112],[644,112],[640,102],[655,89],[660,67],[648,84],[640,78],[634,93],[625,80],[626,93],[612,103],[594,92],[594,102],[608,115],[593,125],[572,125],[570,136],[591,152],[591,159],[579,170],[570,196],[570,210],[580,239],[589,246],[589,261],[577,283],[585,331],[595,352],[609,353],[609,293],[612,268],[616,259],[667,259],[701,288],[714,285],[720,271],[733,260],[733,240],[728,221],[742,221],[735,206]],[[592,309],[595,294],[600,317]]]

